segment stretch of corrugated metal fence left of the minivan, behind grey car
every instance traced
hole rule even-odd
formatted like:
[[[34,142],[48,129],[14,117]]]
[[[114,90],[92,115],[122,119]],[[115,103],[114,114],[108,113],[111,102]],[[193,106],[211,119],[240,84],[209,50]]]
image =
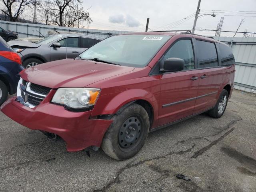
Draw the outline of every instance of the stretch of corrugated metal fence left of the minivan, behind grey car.
[[[108,36],[112,36],[112,35],[129,33],[127,31],[59,27],[59,26],[9,22],[9,21],[2,21],[2,20],[0,20],[0,27],[2,27],[5,30],[18,32],[19,38],[42,37],[42,35],[40,35],[40,33],[42,33],[43,35],[46,35],[47,31],[51,31],[51,30],[79,32],[79,33],[83,33],[83,34],[99,36],[99,37],[104,37],[104,38],[106,38]]]

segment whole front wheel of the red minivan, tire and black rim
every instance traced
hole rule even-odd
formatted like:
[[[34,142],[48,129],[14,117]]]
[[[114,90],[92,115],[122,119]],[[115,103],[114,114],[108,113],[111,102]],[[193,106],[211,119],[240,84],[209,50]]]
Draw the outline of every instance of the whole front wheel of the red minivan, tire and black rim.
[[[146,141],[150,127],[148,113],[142,106],[134,103],[115,115],[113,120],[102,140],[102,149],[116,160],[126,160],[136,155]],[[126,132],[122,132],[125,129]],[[124,146],[126,143],[127,147]]]

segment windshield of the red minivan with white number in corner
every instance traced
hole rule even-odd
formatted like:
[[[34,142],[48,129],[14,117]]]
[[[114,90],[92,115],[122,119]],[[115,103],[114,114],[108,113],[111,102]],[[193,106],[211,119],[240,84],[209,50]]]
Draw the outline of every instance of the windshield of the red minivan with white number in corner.
[[[106,38],[88,48],[79,58],[103,60],[122,66],[144,67],[170,39],[170,35],[131,34]]]

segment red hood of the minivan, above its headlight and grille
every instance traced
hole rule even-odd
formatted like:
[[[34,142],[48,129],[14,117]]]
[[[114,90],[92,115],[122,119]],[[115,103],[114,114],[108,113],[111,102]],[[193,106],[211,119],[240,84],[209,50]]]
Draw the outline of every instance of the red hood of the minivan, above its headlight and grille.
[[[21,78],[50,88],[85,87],[132,70],[134,67],[89,60],[63,59],[23,70]]]

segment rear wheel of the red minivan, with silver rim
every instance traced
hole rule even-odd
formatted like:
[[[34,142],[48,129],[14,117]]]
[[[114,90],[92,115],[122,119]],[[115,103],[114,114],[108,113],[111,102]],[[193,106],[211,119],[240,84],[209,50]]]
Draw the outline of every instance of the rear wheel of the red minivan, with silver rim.
[[[219,110],[219,104],[220,102],[222,103],[222,101],[224,101],[224,98],[226,97],[226,103],[225,104],[222,104],[222,110],[220,112]],[[222,90],[222,92],[220,93],[220,97],[218,98],[217,102],[216,102],[216,105],[214,106],[213,109],[209,110],[208,111],[208,114],[211,116],[211,117],[214,117],[214,118],[220,118],[225,110],[226,110],[226,107],[227,107],[227,104],[228,104],[228,92],[227,90]]]

